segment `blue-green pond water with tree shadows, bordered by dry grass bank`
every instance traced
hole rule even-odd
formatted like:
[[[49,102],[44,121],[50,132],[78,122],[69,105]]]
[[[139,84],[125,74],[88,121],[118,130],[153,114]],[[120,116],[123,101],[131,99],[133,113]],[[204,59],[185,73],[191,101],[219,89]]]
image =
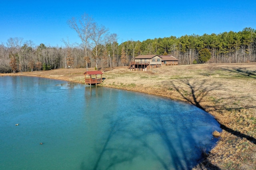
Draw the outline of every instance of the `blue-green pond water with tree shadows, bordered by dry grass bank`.
[[[0,129],[2,170],[191,169],[221,130],[183,102],[26,76],[0,77]]]

